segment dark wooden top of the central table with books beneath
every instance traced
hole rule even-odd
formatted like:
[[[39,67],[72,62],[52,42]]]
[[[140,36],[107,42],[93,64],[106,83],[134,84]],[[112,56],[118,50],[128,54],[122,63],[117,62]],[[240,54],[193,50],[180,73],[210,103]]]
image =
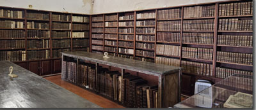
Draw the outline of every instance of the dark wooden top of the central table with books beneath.
[[[156,64],[152,62],[143,62],[140,60],[132,60],[129,58],[120,58],[108,56],[109,58],[103,58],[103,55],[99,53],[91,52],[63,52],[68,57],[75,57],[91,62],[97,62],[99,64],[111,65],[113,67],[119,67],[122,69],[129,69],[131,71],[143,72],[145,74],[152,74],[154,76],[160,76],[162,74],[170,73],[172,71],[179,71],[181,67],[175,67],[170,65]]]

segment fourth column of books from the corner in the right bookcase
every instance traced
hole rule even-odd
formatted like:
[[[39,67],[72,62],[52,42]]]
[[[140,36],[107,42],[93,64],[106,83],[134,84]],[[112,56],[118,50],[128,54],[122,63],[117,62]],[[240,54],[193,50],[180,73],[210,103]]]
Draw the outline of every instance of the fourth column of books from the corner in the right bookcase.
[[[156,10],[136,11],[135,59],[154,62]]]

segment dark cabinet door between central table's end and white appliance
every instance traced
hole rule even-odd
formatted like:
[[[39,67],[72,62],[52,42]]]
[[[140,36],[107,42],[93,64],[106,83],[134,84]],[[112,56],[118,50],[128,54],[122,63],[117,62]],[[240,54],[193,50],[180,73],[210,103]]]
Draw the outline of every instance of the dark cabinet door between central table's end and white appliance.
[[[195,78],[193,76],[182,74],[182,93],[185,95],[193,95],[195,86]]]

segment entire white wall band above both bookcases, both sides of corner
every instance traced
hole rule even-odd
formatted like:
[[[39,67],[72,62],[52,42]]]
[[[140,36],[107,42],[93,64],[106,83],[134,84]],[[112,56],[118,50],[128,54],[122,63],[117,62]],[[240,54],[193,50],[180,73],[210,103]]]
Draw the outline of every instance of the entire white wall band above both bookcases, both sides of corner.
[[[94,3],[93,3],[94,1]],[[0,0],[0,6],[69,13],[111,13],[225,0]],[[65,10],[63,9],[65,8]]]

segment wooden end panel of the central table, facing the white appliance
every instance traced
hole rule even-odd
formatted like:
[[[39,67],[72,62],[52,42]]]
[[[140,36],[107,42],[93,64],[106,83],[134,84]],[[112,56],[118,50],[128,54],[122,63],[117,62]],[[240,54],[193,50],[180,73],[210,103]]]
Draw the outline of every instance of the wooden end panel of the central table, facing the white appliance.
[[[178,78],[179,72],[175,74],[169,74],[164,78],[164,107],[173,107],[175,104],[178,103]]]

